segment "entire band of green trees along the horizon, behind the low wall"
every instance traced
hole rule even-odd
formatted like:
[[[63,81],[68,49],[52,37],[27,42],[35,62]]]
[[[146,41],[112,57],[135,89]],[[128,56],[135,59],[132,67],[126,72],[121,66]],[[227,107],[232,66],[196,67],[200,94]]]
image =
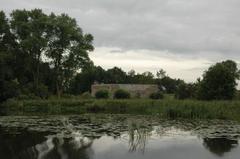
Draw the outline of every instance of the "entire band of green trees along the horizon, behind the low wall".
[[[67,14],[41,9],[0,12],[0,102],[8,98],[48,98],[91,91],[94,83],[157,84],[178,99],[229,100],[236,94],[239,70],[234,61],[212,65],[193,83],[169,77],[160,69],[136,73],[95,66],[89,58],[93,36],[83,33]]]

